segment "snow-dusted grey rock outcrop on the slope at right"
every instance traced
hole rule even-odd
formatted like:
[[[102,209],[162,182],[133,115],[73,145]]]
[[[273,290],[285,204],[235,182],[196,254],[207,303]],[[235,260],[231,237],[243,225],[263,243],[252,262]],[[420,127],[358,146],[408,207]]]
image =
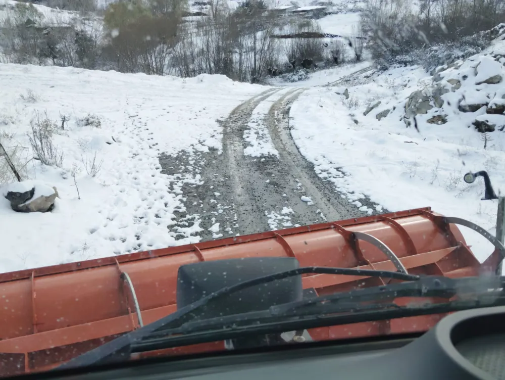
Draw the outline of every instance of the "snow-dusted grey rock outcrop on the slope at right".
[[[431,84],[413,91],[405,100],[403,121],[430,124],[462,121],[479,132],[505,129],[505,24],[492,29],[497,37],[482,53],[434,69]],[[377,108],[377,119],[387,117]],[[371,110],[370,110],[371,111]]]

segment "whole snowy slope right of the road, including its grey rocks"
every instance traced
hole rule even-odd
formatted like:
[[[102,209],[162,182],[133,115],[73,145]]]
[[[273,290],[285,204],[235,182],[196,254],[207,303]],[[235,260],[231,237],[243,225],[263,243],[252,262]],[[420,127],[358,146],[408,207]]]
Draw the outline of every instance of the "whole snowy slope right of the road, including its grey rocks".
[[[309,89],[292,105],[292,136],[318,174],[350,197],[366,194],[388,211],[431,206],[494,234],[497,201],[481,201],[482,179],[467,184],[463,176],[486,170],[496,194],[505,192],[502,38],[435,75],[397,68]],[[492,246],[462,228],[485,259]]]

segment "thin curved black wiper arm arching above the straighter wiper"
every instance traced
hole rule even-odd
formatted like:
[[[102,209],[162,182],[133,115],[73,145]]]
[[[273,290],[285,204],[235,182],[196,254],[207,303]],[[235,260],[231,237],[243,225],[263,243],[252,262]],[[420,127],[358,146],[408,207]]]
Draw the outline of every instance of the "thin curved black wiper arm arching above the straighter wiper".
[[[217,292],[211,293],[207,297],[201,298],[198,301],[185,306],[176,312],[167,315],[155,322],[149,323],[131,333],[125,334],[116,338],[102,346],[99,346],[91,351],[88,351],[67,363],[56,367],[55,369],[66,369],[80,366],[89,366],[98,363],[109,361],[122,361],[129,359],[129,348],[141,341],[156,331],[164,328],[177,327],[190,319],[195,318],[195,312],[208,305],[209,302],[215,301],[221,297],[241,291],[243,289],[251,288],[259,284],[280,280],[288,277],[293,277],[306,273],[315,274],[336,274],[336,275],[352,275],[364,277],[381,277],[392,278],[398,280],[416,281],[421,278],[418,275],[406,274],[402,272],[393,272],[387,270],[369,270],[369,269],[354,269],[354,268],[333,268],[333,267],[302,267],[292,269],[284,272],[274,273],[267,276],[258,277],[252,280],[247,280],[235,284],[231,287],[223,288]]]

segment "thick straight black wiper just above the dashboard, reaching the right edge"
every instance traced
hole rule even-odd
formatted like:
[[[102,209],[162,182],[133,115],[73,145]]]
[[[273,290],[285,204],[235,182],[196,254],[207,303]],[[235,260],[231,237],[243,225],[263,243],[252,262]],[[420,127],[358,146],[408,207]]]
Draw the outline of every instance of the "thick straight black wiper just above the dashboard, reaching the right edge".
[[[177,346],[214,342],[260,334],[323,326],[447,313],[469,308],[505,305],[505,277],[423,277],[415,282],[395,283],[347,293],[272,306],[269,310],[248,312],[207,320],[196,320],[145,337],[132,344],[131,352],[145,352]],[[380,296],[374,299],[373,296]],[[463,299],[449,301],[458,295]],[[397,297],[436,297],[448,301],[421,302],[399,306],[394,303],[363,304]],[[465,299],[466,298],[466,299]]]

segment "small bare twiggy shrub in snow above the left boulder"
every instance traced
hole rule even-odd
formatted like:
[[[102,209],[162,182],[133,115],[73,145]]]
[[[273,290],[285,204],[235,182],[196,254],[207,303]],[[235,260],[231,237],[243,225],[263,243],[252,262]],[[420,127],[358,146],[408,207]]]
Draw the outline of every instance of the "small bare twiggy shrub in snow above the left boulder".
[[[47,117],[47,113],[30,121],[31,133],[28,134],[33,149],[34,158],[44,165],[63,166],[64,154],[53,142],[53,134],[58,130],[58,124]]]

